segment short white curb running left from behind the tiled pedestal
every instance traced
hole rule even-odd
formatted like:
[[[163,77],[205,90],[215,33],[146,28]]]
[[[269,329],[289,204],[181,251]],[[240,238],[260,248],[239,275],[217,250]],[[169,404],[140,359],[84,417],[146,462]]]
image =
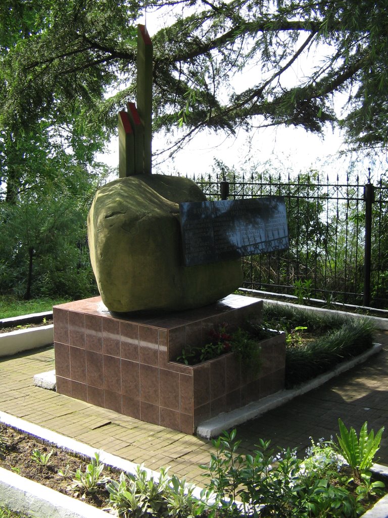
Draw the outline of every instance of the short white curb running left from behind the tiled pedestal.
[[[54,324],[29,329],[18,329],[0,334],[0,356],[38,349],[54,343]]]

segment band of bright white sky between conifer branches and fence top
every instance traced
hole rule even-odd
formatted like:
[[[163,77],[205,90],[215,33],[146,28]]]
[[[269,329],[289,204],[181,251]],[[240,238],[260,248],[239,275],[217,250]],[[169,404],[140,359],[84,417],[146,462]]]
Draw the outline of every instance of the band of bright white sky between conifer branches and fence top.
[[[159,135],[153,137],[153,152],[166,147]],[[344,149],[343,138],[339,130],[327,126],[323,136],[307,133],[303,128],[282,127],[260,128],[249,134],[241,131],[236,136],[204,132],[189,142],[182,151],[172,159],[160,163],[154,156],[153,172],[162,174],[180,174],[183,176],[205,176],[212,173],[214,160],[218,159],[229,168],[237,171],[249,170],[253,164],[264,168],[268,162],[284,174],[295,177],[300,172],[315,169],[321,178],[335,182],[345,180],[352,161],[359,162],[357,171],[360,181],[367,180],[368,167],[371,168],[372,179],[380,178],[387,169],[385,162],[372,163],[357,154],[347,153],[340,156]],[[118,138],[113,138],[107,152],[99,156],[99,160],[111,167],[118,165]],[[271,168],[271,165],[270,165]]]

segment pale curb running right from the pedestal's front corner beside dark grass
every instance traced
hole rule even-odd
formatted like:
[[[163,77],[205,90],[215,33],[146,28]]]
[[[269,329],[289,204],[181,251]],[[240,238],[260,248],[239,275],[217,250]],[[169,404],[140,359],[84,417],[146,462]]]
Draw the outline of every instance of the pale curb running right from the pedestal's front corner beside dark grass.
[[[215,418],[204,421],[198,426],[197,435],[205,439],[211,439],[212,437],[221,434],[223,430],[229,430],[241,423],[245,423],[251,419],[256,419],[265,412],[280,407],[287,403],[287,401],[316,389],[342,372],[351,369],[359,363],[365,362],[370,356],[380,352],[381,349],[381,343],[375,343],[374,346],[365,351],[365,353],[360,354],[347,362],[340,363],[330,372],[326,372],[325,374],[304,383],[300,387],[297,387],[297,389],[277,392],[276,394],[272,394],[271,396],[260,399],[259,401],[249,403],[249,405],[246,405],[245,407],[219,414]]]

